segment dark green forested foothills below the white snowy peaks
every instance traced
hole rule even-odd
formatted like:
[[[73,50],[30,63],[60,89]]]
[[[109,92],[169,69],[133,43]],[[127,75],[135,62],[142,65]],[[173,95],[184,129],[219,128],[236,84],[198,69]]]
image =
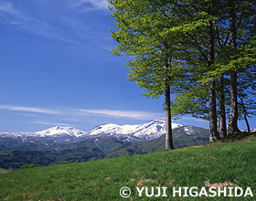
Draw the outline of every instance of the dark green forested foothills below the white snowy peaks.
[[[189,132],[189,134],[187,133]],[[208,143],[208,130],[194,126],[173,129],[175,148]],[[75,140],[74,140],[75,139]],[[16,170],[24,164],[46,166],[78,163],[165,150],[165,134],[152,140],[133,135],[93,135],[91,138],[0,138],[0,167]]]

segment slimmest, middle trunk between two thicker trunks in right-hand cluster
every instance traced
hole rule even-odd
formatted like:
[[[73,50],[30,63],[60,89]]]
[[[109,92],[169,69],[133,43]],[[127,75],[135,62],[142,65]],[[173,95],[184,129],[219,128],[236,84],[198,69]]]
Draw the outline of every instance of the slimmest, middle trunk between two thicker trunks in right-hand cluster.
[[[227,136],[226,109],[223,76],[219,79],[219,137]]]

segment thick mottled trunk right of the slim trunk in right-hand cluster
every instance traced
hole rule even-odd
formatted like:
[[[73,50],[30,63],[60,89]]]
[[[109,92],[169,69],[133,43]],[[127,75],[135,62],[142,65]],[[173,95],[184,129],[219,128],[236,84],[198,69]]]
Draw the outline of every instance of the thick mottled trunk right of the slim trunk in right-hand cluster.
[[[232,48],[237,48],[236,38],[236,13],[235,13],[235,0],[229,0],[229,40]],[[232,55],[232,52],[231,52]],[[239,132],[238,127],[238,74],[236,70],[230,73],[230,113],[228,122],[228,135]]]

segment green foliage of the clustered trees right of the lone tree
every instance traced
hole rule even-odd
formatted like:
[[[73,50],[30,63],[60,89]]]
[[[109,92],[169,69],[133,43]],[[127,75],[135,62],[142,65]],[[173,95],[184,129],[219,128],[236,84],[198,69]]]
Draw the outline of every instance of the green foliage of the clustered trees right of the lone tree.
[[[190,53],[189,57],[187,57],[189,60],[186,59],[186,62],[193,68],[189,69],[189,79],[186,79],[187,81],[184,86],[179,86],[181,90],[177,91],[177,95],[173,100],[172,111],[173,115],[177,115],[177,117],[184,114],[192,114],[196,118],[209,120],[208,82],[212,80],[218,82],[219,79],[230,80],[229,73],[232,71],[237,71],[238,73],[238,89],[243,89],[240,90],[243,91],[240,93],[246,101],[248,116],[255,113],[255,102],[251,101],[250,97],[255,97],[256,89],[254,81],[256,42],[255,26],[253,26],[255,24],[256,5],[253,1],[242,1],[240,4],[236,3],[234,5],[236,46],[232,46],[232,42],[230,41],[229,12],[231,7],[229,6],[229,2],[204,1],[202,4],[198,1],[189,1],[187,5],[187,9],[190,9],[191,12],[187,12],[185,15],[191,15],[193,13],[197,16],[200,13],[207,12],[208,8],[211,8],[211,14],[205,14],[205,21],[200,18],[203,17],[202,15],[194,18],[194,20],[204,21],[205,23],[211,22],[213,29],[210,29],[209,26],[198,26],[195,29],[191,29],[190,32],[185,33],[187,35],[186,37],[190,40],[186,40],[187,44],[189,44],[189,48],[187,49]],[[191,9],[190,6],[195,8],[195,10]],[[191,20],[193,20],[192,18]],[[209,39],[210,31],[214,36],[212,44],[210,44]],[[214,48],[211,63],[208,60],[209,47]],[[228,109],[227,111],[229,111],[230,96],[228,90],[230,88],[230,81],[225,81],[223,84],[224,87],[217,85],[213,90],[217,91],[217,102],[220,94],[225,94],[226,100],[224,100],[224,104],[226,109]],[[219,105],[217,105],[216,109],[218,110],[218,108]],[[241,113],[242,111],[240,110],[240,115]]]

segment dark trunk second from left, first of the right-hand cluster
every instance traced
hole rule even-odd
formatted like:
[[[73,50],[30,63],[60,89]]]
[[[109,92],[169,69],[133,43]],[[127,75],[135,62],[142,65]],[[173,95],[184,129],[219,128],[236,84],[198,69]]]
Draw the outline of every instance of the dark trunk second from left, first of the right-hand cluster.
[[[208,6],[208,14],[212,14],[211,5]],[[214,28],[211,20],[208,21],[208,68],[214,64]],[[209,81],[209,143],[219,140],[216,111],[215,80]]]

